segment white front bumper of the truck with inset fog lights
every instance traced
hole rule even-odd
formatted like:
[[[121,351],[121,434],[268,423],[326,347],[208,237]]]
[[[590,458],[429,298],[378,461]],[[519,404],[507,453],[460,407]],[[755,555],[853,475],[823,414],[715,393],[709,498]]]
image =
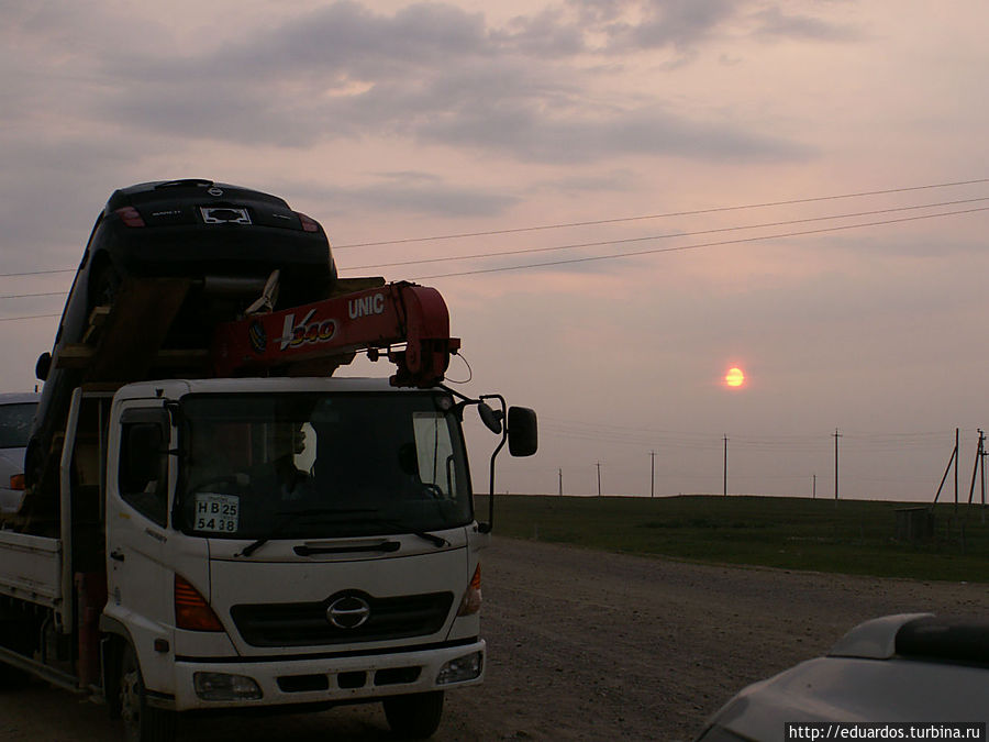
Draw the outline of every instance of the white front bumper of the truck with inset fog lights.
[[[484,640],[473,643],[424,649],[413,652],[358,655],[346,657],[292,658],[271,661],[236,661],[180,658],[175,664],[174,699],[148,699],[155,706],[177,711],[192,709],[222,709],[269,707],[295,704],[345,704],[374,700],[387,696],[426,693],[477,685],[485,677]],[[477,671],[454,673],[447,683],[437,683],[437,676],[451,663],[476,655]],[[238,676],[251,678],[257,686],[258,697],[204,699],[197,694],[197,674],[210,677]],[[451,675],[447,669],[447,676]],[[202,688],[200,675],[200,689]],[[238,680],[243,684],[243,682]]]

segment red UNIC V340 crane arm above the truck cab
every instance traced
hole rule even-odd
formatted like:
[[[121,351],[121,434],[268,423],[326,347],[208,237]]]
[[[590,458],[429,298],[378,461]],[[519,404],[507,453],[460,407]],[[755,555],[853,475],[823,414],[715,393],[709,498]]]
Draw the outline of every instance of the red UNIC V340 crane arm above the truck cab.
[[[397,347],[398,346],[398,347]],[[449,312],[436,289],[407,281],[354,291],[218,326],[211,351],[216,376],[262,370],[329,368],[367,351],[385,351],[398,366],[395,386],[443,380],[460,341],[449,336]]]

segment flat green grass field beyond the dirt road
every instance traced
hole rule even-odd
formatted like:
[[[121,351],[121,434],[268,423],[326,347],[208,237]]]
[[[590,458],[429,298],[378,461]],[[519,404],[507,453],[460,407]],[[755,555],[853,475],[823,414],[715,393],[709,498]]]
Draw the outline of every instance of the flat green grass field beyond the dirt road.
[[[923,503],[781,497],[499,495],[494,532],[700,562],[989,583],[981,511],[934,509],[934,534],[897,539],[897,510]],[[487,517],[487,497],[478,498]]]

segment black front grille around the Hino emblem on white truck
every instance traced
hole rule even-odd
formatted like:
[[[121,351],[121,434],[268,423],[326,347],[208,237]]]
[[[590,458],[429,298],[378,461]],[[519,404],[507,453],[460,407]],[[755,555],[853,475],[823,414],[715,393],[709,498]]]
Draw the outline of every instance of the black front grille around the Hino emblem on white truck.
[[[356,597],[370,608],[367,620],[356,628],[340,628],[327,617],[331,605],[344,597]],[[436,633],[446,621],[453,599],[453,593],[374,598],[347,591],[320,602],[234,606],[230,613],[252,646],[313,646]]]

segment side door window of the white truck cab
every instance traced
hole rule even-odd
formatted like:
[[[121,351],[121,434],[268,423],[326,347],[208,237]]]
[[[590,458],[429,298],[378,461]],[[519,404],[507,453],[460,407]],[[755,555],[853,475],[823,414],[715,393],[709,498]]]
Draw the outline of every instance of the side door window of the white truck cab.
[[[168,424],[164,411],[135,410],[121,425],[120,496],[158,525],[168,522]]]

